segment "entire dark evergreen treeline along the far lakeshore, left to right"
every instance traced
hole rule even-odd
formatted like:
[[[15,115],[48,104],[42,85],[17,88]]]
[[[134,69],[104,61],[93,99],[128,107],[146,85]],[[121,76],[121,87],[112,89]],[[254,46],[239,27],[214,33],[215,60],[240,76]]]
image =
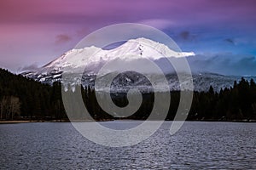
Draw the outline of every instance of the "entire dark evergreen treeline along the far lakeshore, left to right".
[[[82,93],[84,105],[90,116],[97,121],[119,119],[111,116],[97,103],[93,88],[71,90],[67,95],[70,102],[67,107],[73,111],[76,119],[86,119],[83,108],[76,102],[76,93]],[[78,89],[78,88],[74,88]],[[169,93],[169,92],[166,92]],[[106,98],[101,94],[102,99]],[[126,94],[112,95],[113,103],[120,107],[129,105]],[[173,120],[179,104],[180,92],[171,92],[171,103],[166,120]],[[163,99],[164,101],[164,99]],[[166,105],[162,102],[162,105]],[[107,105],[108,106],[108,105]],[[154,93],[143,94],[143,103],[137,112],[127,119],[144,120],[150,115],[154,106]],[[67,109],[67,108],[66,108]],[[124,118],[122,118],[124,119]],[[61,99],[61,83],[53,85],[35,82],[32,79],[14,75],[6,70],[0,70],[0,120],[68,120]],[[194,92],[193,103],[188,120],[194,121],[250,121],[256,120],[256,83],[241,78],[234,82],[232,88],[215,92],[212,87],[207,92]]]

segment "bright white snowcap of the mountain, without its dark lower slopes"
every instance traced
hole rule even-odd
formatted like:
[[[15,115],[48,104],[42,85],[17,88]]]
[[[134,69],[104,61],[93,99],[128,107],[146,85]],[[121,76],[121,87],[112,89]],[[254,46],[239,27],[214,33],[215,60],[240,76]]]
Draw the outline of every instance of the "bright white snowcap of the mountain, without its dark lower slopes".
[[[113,59],[132,60],[132,59],[161,59],[166,57],[185,57],[195,55],[193,52],[176,52],[168,48],[165,44],[154,42],[153,40],[139,37],[131,39],[117,48],[103,50],[95,46],[72,49],[62,54],[59,58],[44,65],[40,70],[65,71],[67,69],[84,69],[108,62]],[[129,56],[129,57],[128,57]]]

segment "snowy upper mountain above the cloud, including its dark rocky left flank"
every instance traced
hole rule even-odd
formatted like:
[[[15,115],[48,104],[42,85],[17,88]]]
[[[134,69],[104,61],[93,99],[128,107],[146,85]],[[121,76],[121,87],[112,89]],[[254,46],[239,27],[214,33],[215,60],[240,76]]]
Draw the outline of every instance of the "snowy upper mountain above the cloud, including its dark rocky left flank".
[[[117,48],[104,50],[95,46],[72,49],[62,54],[59,58],[44,65],[37,71],[26,73],[28,77],[37,77],[44,82],[45,77],[60,77],[62,72],[90,73],[95,75],[102,67],[111,60],[124,63],[130,62],[135,65],[143,65],[143,59],[158,61],[164,58],[185,57],[194,53],[176,52],[168,48],[165,44],[154,42],[153,40],[139,37],[123,43]],[[85,70],[84,70],[85,69]],[[132,68],[131,68],[132,70]]]

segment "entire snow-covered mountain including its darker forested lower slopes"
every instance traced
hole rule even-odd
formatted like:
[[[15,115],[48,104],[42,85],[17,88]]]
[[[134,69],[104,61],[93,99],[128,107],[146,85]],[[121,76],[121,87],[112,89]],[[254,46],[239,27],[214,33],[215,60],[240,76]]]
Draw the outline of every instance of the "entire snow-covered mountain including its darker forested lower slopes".
[[[62,81],[61,75],[63,72],[70,72],[76,75],[73,77],[73,80],[69,80],[70,84],[80,82],[79,77],[82,77],[84,86],[94,86],[96,75],[102,66],[109,61],[115,61],[116,65],[119,63],[122,65],[129,63],[130,65],[142,66],[146,68],[144,69],[146,70],[144,74],[148,74],[149,77],[154,77],[154,79],[158,80],[158,75],[154,74],[152,68],[148,67],[147,69],[147,65],[143,64],[143,59],[150,59],[156,65],[159,65],[160,69],[166,74],[170,88],[172,90],[178,90],[179,82],[177,75],[166,58],[179,59],[194,55],[193,52],[175,52],[160,42],[154,42],[146,38],[137,38],[131,39],[119,47],[110,50],[103,50],[94,46],[72,49],[48,65],[39,68],[37,71],[26,71],[22,75],[31,77],[39,82],[52,83]],[[108,72],[105,72],[105,75],[100,75],[100,79],[104,78],[107,74],[111,74],[113,71],[111,69],[108,70]],[[193,82],[197,91],[208,90],[210,85],[216,90],[230,88],[233,82],[238,79],[240,77],[224,77],[212,73],[197,72],[193,74]],[[142,74],[134,72],[132,68],[131,71],[121,73],[119,77],[113,79],[112,87],[114,90],[124,90],[132,86],[137,86],[137,88],[141,88],[142,90],[151,89],[148,79]],[[159,90],[161,90],[160,86]]]

